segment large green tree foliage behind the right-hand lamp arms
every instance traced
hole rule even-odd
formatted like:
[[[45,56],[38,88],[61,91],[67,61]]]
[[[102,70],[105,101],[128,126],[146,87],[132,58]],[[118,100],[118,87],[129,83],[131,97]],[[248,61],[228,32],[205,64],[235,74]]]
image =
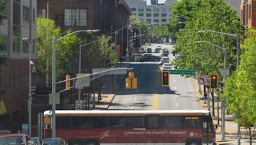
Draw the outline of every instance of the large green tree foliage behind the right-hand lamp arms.
[[[212,32],[205,34],[196,32],[212,30],[243,34],[243,25],[239,22],[236,11],[221,0],[188,2],[189,0],[179,2],[186,4],[184,10],[180,10],[183,12],[180,13],[184,15],[183,17],[190,19],[186,21],[184,29],[177,33],[175,51],[182,55],[182,59],[175,63],[183,66],[184,69],[194,69],[198,74],[220,74],[220,69],[223,68],[223,50],[207,43],[195,43],[195,41],[209,41],[221,48],[227,48],[227,67],[230,71],[234,71],[236,69],[236,38]],[[177,8],[180,8],[179,3],[175,4]],[[176,10],[175,7],[174,10]],[[184,38],[184,36],[188,37]]]

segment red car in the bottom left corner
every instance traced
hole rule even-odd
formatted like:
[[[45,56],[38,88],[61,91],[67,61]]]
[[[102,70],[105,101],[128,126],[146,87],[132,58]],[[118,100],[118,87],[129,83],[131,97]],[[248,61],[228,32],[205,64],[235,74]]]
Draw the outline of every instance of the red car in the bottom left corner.
[[[31,141],[31,137],[26,134],[4,134],[0,135],[0,145],[15,144],[15,145],[36,145]]]

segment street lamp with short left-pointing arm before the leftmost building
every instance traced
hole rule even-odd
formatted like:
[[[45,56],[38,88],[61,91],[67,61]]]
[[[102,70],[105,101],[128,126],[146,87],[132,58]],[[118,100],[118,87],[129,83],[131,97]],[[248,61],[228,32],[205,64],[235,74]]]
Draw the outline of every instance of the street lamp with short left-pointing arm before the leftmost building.
[[[31,104],[32,104],[32,98],[31,98],[31,66],[34,64],[31,61],[31,43],[29,42],[28,38],[22,38],[22,40],[27,41],[29,45],[29,82],[28,82],[28,127],[29,127],[29,135],[31,136]]]

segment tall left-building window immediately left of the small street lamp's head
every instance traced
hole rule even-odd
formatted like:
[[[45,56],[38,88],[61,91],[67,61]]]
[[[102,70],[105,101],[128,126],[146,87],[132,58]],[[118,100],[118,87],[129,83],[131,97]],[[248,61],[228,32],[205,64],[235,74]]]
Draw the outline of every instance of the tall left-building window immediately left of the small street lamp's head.
[[[20,52],[20,27],[13,25],[13,38],[12,38],[13,52]]]

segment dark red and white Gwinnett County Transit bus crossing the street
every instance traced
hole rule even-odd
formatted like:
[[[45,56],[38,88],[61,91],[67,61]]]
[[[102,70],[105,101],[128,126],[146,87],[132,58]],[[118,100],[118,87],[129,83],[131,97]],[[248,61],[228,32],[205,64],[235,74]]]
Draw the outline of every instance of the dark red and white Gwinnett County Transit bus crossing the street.
[[[44,137],[51,114],[44,112]],[[56,110],[56,137],[68,145],[216,144],[207,110]]]

